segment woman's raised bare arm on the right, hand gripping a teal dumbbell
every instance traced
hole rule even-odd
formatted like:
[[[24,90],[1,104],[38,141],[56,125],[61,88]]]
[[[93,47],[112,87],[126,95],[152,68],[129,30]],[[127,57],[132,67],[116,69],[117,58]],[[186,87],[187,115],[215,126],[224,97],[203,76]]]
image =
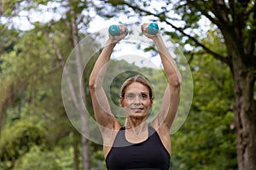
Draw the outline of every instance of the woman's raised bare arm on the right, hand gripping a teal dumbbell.
[[[142,26],[143,33],[154,41],[159,51],[160,59],[164,66],[164,70],[166,71],[166,77],[168,80],[168,85],[162,99],[162,105],[160,106],[160,112],[152,123],[155,127],[165,127],[170,130],[172,122],[177,114],[182,78],[172,55],[169,53],[162,37],[160,36],[160,32],[156,35],[150,35],[146,28],[148,28],[148,24],[144,24]]]

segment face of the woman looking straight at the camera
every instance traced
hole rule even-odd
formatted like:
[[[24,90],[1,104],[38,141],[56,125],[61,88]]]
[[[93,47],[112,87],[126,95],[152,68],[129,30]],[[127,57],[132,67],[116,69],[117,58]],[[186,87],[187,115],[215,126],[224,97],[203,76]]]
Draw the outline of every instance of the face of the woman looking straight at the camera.
[[[149,97],[149,89],[140,82],[132,82],[125,89],[125,97],[120,99],[122,107],[125,107],[126,116],[143,118],[148,116],[153,99]]]

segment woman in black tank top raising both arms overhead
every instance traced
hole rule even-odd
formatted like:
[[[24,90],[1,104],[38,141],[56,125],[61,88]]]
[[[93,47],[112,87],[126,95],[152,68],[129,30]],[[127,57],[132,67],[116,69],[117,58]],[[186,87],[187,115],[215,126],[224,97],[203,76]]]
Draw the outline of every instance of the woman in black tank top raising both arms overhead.
[[[111,112],[102,88],[108,61],[116,43],[126,35],[125,26],[119,26],[119,36],[109,35],[107,45],[96,60],[90,75],[90,94],[96,122],[99,123],[103,153],[108,170],[169,169],[171,155],[170,130],[177,113],[181,76],[175,61],[168,52],[160,33],[148,33],[148,23],[142,26],[143,34],[151,38],[160,53],[166,71],[168,86],[160,111],[148,126],[148,111],[153,104],[150,83],[141,76],[131,77],[121,89],[120,104],[125,108],[126,122],[122,127]]]

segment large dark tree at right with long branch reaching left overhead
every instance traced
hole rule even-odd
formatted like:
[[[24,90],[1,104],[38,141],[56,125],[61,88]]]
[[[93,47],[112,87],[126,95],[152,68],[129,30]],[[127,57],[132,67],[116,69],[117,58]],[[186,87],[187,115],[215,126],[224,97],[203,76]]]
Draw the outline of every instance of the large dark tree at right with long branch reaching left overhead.
[[[112,11],[104,11],[102,4],[98,6],[98,14],[108,18],[125,14],[145,16],[151,15],[174,31],[166,31],[172,38],[189,43],[195,52],[207,52],[215,59],[230,67],[234,81],[234,105],[231,105],[235,115],[236,153],[240,170],[256,169],[256,4],[254,0],[209,0],[177,2],[161,2],[154,7],[155,1],[127,2],[123,0],[103,0],[111,4]],[[151,7],[151,8],[149,8]],[[173,13],[173,11],[175,13]],[[135,14],[136,13],[136,14]],[[111,15],[109,15],[111,14]],[[226,53],[218,53],[215,48],[201,42],[200,32],[205,33],[199,22],[207,20],[212,23],[214,30],[219,32],[219,41],[224,44]],[[197,56],[197,55],[195,55]]]

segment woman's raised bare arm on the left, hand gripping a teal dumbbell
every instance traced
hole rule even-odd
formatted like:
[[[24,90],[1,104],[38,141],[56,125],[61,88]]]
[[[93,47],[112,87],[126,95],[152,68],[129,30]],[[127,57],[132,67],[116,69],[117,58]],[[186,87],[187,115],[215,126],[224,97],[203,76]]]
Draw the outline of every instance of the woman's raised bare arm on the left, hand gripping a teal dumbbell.
[[[119,129],[120,124],[112,114],[108,98],[104,92],[102,84],[108,69],[108,61],[113,52],[113,48],[119,40],[125,37],[125,26],[119,27],[120,35],[109,35],[108,42],[96,60],[96,64],[94,65],[89,79],[90,96],[96,122],[98,122],[102,127],[108,127],[110,129]]]

